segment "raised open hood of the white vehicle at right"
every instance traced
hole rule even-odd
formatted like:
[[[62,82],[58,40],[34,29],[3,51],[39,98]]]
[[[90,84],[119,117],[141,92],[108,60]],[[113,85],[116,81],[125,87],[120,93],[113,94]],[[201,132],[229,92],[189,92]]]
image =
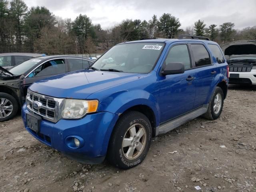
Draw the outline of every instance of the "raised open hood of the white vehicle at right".
[[[226,59],[250,56],[256,57],[256,41],[240,40],[233,41],[221,46]]]

